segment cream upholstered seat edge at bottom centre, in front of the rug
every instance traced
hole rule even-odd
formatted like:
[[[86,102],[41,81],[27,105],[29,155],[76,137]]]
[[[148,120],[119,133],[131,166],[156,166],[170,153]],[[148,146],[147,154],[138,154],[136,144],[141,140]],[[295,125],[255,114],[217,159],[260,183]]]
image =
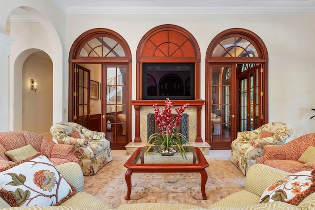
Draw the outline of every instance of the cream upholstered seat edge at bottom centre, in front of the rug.
[[[198,206],[187,204],[162,204],[162,203],[143,203],[143,204],[123,204],[118,210],[205,210]]]

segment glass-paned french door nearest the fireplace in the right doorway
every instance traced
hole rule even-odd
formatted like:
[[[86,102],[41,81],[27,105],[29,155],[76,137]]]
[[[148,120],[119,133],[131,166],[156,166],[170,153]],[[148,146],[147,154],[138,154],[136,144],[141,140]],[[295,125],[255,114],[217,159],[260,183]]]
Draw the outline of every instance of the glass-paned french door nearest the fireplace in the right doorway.
[[[211,149],[230,149],[236,130],[236,76],[233,64],[210,64]]]

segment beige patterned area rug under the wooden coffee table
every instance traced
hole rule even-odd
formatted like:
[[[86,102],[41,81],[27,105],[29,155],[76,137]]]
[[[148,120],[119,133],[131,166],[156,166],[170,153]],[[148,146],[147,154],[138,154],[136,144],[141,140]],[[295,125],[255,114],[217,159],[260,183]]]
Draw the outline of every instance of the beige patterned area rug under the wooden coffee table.
[[[207,208],[222,198],[244,189],[244,175],[226,157],[205,155],[207,200],[202,199],[199,173],[133,173],[130,200],[124,164],[130,155],[116,155],[96,175],[84,177],[84,191],[117,208],[133,203],[180,203]]]

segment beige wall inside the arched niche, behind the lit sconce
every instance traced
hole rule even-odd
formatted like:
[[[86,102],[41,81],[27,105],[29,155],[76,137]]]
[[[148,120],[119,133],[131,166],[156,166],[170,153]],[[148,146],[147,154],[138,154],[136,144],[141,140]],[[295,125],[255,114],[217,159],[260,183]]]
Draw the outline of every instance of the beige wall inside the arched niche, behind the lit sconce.
[[[53,64],[47,54],[30,55],[23,64],[22,73],[22,130],[50,134],[53,123]],[[37,83],[31,90],[30,80]]]

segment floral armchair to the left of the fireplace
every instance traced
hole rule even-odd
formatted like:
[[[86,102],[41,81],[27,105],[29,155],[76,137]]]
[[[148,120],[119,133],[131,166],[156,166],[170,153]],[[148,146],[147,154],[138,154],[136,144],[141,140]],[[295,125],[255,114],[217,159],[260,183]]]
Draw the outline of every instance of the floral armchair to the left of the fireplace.
[[[79,158],[83,175],[95,174],[113,159],[110,142],[103,132],[91,131],[75,122],[56,123],[50,132],[59,144],[74,146],[73,154]]]

